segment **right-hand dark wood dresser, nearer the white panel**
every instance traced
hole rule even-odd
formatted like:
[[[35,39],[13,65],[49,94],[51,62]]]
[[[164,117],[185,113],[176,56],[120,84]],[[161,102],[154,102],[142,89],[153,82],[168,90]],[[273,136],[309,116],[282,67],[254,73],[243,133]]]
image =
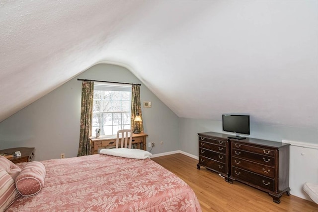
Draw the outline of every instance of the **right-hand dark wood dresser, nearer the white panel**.
[[[275,203],[290,195],[289,143],[231,139],[231,180],[267,192]]]

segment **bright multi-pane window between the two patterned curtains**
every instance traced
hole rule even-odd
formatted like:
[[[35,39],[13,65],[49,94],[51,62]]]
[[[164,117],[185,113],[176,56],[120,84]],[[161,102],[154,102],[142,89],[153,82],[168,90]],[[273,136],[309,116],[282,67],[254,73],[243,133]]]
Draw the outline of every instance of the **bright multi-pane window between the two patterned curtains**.
[[[131,85],[94,83],[92,135],[116,135],[130,128]]]

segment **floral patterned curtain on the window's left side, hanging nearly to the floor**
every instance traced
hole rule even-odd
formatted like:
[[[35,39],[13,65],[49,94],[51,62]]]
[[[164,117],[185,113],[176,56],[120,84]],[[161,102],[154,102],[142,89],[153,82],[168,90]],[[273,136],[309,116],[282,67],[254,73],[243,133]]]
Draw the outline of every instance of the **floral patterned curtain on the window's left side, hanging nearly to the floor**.
[[[93,113],[94,82],[83,81],[81,84],[80,134],[78,156],[90,155],[91,123]]]

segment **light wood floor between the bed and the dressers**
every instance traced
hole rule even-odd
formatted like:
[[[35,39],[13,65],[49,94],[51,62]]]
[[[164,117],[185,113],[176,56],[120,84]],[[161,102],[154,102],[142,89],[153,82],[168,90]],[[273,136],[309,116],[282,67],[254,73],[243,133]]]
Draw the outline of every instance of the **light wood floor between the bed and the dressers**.
[[[183,154],[152,158],[184,180],[195,192],[203,212],[318,212],[318,205],[299,197],[283,194],[281,203],[265,192],[234,181],[225,182],[217,173],[201,167]],[[291,191],[292,192],[292,191]]]

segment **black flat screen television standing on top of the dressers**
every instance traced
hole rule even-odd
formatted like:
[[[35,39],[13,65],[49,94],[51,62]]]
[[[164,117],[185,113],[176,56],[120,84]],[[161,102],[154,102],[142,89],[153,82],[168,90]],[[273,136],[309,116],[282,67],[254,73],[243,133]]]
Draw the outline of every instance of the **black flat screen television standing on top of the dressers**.
[[[246,139],[240,137],[239,134],[249,135],[249,116],[248,115],[222,115],[223,131],[236,133],[236,136],[231,136],[232,139]]]

